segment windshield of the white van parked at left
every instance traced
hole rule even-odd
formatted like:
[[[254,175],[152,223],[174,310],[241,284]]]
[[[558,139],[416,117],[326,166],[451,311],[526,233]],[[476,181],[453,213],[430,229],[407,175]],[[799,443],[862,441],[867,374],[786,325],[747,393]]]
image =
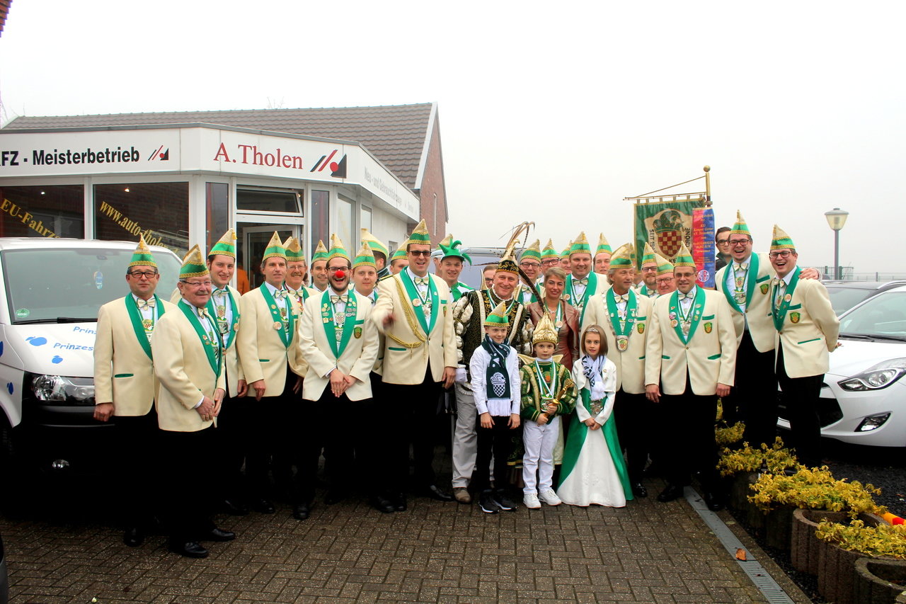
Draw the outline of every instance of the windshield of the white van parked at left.
[[[102,304],[125,296],[131,249],[10,249],[3,252],[6,299],[13,323],[55,321],[60,317],[96,320]],[[179,261],[158,253],[157,292],[169,300]]]

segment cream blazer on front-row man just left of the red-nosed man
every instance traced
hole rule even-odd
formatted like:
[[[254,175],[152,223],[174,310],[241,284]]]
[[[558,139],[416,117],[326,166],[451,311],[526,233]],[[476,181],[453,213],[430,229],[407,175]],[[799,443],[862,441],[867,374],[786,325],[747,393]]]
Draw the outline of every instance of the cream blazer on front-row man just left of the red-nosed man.
[[[267,301],[259,287],[247,291],[239,299],[242,313],[239,333],[236,334],[239,363],[249,385],[246,396],[255,396],[253,382],[265,380],[265,396],[282,395],[286,384],[286,365],[297,375],[305,375],[304,359],[298,356],[299,305],[292,301],[294,330],[287,348],[274,328]]]

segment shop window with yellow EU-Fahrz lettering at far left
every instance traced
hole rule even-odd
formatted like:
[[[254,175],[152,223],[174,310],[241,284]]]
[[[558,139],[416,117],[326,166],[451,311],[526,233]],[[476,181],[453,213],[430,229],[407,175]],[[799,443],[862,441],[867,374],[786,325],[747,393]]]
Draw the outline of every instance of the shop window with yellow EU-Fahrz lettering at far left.
[[[73,237],[85,235],[82,185],[0,186],[0,237]]]

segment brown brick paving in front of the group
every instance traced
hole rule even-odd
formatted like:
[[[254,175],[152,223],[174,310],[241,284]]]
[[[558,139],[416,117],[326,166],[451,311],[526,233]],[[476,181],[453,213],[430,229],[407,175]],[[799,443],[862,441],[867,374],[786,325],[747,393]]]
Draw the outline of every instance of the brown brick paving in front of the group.
[[[765,601],[685,501],[497,515],[318,502],[304,522],[286,507],[218,522],[236,541],[187,560],[162,536],[130,549],[97,523],[0,518],[12,602]]]

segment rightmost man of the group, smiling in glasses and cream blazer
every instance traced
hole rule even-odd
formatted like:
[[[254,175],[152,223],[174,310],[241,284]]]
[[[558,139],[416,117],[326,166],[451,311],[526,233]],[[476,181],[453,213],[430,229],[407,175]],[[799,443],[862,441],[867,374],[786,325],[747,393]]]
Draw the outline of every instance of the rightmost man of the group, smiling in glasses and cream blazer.
[[[828,353],[837,346],[840,320],[827,288],[815,279],[802,279],[805,271],[796,266],[799,255],[793,239],[776,225],[768,256],[776,271],[769,303],[776,329],[777,380],[784,393],[796,457],[807,467],[816,467],[821,465],[818,399]]]

